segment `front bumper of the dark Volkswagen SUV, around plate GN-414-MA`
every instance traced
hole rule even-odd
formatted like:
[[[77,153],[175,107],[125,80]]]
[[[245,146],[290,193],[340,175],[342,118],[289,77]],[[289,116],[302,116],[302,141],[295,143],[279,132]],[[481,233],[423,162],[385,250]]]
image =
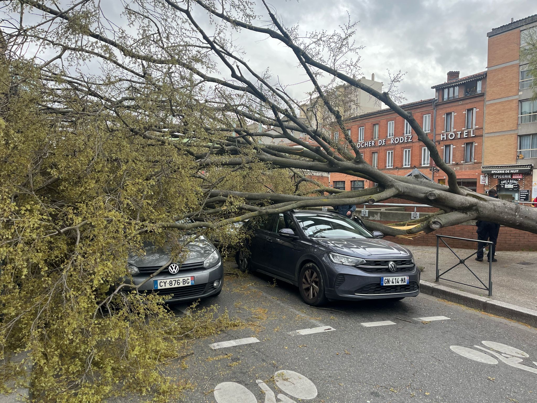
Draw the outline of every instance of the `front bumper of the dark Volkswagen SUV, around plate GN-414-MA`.
[[[326,297],[330,299],[366,300],[416,297],[419,294],[420,271],[416,267],[408,272],[367,273],[342,264],[330,265]],[[408,276],[409,284],[380,285],[381,277]]]

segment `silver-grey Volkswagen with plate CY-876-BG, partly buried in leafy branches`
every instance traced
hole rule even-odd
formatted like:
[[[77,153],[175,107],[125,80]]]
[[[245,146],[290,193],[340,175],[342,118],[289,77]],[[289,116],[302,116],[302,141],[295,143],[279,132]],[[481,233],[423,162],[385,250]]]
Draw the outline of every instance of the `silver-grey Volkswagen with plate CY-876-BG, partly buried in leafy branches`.
[[[170,296],[166,302],[192,300],[216,296],[222,291],[223,263],[219,251],[203,236],[188,243],[185,260],[173,262],[154,278],[143,284],[139,291],[156,292]],[[157,248],[144,244],[145,255],[130,254],[127,271],[133,283],[139,285],[170,259],[170,248]],[[124,279],[129,281],[128,278]]]

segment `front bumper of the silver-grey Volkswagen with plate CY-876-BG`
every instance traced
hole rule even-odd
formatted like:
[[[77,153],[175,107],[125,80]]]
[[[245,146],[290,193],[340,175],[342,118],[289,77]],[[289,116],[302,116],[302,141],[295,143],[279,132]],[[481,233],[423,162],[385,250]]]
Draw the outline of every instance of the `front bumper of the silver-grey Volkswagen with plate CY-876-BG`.
[[[154,290],[154,283],[153,283],[154,280],[160,280],[164,278],[174,278],[174,277],[189,277],[189,276],[195,277],[194,285]],[[139,285],[147,277],[149,277],[148,274],[133,276],[132,282],[130,281],[129,277],[125,277],[124,282],[131,283],[134,285]],[[171,298],[166,299],[166,303],[188,301],[188,300],[193,300],[193,299],[198,299],[198,298],[209,297],[209,296],[212,296],[213,294],[216,294],[220,290],[222,290],[223,277],[224,277],[224,265],[223,265],[223,262],[220,261],[219,264],[209,269],[184,270],[184,271],[179,271],[175,275],[172,275],[168,271],[163,270],[163,272],[159,273],[155,277],[148,280],[138,290],[140,292],[144,292],[144,291],[151,292],[151,293],[154,292],[162,296],[171,296]],[[220,281],[220,285],[215,288],[213,286],[213,283],[216,280]]]

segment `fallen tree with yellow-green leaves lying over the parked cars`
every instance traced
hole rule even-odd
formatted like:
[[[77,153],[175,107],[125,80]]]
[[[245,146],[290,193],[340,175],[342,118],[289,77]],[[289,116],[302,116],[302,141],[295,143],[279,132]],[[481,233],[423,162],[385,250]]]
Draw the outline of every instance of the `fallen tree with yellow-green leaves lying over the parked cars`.
[[[122,284],[128,252],[141,251],[145,240],[171,242],[180,259],[200,235],[236,242],[226,229],[234,222],[390,197],[440,209],[412,229],[371,224],[391,235],[469,219],[537,232],[537,212],[457,185],[429,135],[397,105],[399,74],[386,92],[354,80],[360,47],[351,21],[335,32],[302,33],[265,2],[262,10],[248,0],[104,6],[19,0],[2,9],[0,358],[6,376],[33,363],[40,399],[100,401],[134,391],[164,401],[186,386],[159,372],[185,335],[237,325],[214,311],[176,318],[159,298]],[[344,136],[335,140],[300,118],[301,103],[269,70],[250,66],[237,35],[286,47]],[[333,97],[342,83],[407,119],[448,186],[388,175],[364,161]],[[281,134],[251,131],[252,122]],[[260,135],[299,147],[260,143]],[[308,179],[308,171],[379,185],[342,192]],[[19,352],[27,361],[9,364]]]

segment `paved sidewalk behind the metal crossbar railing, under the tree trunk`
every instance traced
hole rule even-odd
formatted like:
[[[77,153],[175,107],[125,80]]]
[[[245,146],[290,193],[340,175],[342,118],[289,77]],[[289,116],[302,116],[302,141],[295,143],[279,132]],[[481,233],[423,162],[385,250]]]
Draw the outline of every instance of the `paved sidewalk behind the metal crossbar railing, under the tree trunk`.
[[[436,247],[407,245],[405,247],[412,251],[416,264],[425,267],[422,271],[422,280],[434,283],[436,277]],[[453,250],[461,258],[473,253],[473,250],[470,249],[456,248]],[[537,310],[537,252],[500,250],[497,251],[495,257],[498,261],[492,263],[492,297],[490,298]],[[488,286],[489,263],[486,261],[486,251],[483,262],[476,262],[474,258],[475,255],[470,257],[466,264]],[[458,258],[448,248],[440,248],[438,264],[440,273],[457,262]],[[449,271],[445,278],[482,286],[463,264]],[[442,279],[436,284],[466,291],[476,296],[488,297],[486,290],[478,290]]]

